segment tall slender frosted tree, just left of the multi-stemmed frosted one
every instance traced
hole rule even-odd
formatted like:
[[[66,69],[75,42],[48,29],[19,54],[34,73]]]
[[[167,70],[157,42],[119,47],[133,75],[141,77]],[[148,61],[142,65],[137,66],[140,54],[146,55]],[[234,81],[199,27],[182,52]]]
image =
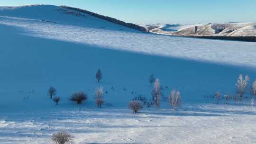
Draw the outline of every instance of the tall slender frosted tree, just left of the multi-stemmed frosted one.
[[[161,97],[161,86],[159,79],[155,80],[154,88],[152,90],[152,100],[155,103],[155,106],[158,108],[160,106],[160,97]]]

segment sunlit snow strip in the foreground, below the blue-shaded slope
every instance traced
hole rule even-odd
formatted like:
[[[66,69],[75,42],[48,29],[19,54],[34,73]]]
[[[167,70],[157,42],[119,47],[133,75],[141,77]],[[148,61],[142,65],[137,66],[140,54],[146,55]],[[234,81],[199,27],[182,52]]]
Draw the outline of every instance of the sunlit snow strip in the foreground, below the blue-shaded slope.
[[[60,129],[75,144],[255,144],[255,108],[27,111],[1,114],[1,144],[51,144]]]

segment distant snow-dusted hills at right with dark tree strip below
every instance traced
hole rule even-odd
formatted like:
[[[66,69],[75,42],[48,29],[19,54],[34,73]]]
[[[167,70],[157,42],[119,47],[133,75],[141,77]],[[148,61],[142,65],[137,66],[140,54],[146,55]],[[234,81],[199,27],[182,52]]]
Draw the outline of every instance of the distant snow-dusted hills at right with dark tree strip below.
[[[156,24],[144,27],[148,32],[163,35],[256,41],[256,23]]]

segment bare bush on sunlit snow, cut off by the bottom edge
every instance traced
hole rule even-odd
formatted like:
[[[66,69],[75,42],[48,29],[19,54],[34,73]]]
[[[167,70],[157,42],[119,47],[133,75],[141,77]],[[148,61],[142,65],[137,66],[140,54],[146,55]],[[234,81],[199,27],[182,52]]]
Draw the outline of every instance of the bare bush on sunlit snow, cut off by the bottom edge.
[[[53,134],[52,140],[54,141],[54,144],[73,144],[73,136],[65,131]]]

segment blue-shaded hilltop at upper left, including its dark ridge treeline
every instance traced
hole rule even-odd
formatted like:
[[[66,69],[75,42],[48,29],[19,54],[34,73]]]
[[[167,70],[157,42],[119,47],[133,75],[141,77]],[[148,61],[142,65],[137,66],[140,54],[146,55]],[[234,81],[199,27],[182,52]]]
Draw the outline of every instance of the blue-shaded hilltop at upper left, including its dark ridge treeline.
[[[26,5],[0,7],[0,16],[37,19],[82,27],[101,27],[111,30],[132,28],[146,31],[145,27],[102,16],[88,10],[55,5]],[[127,28],[128,27],[128,28]]]

